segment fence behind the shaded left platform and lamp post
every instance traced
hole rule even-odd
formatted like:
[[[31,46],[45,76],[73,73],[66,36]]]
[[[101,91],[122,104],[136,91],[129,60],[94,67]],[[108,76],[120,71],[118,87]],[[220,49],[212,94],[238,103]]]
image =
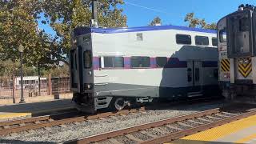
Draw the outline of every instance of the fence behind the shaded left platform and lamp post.
[[[23,95],[24,97],[46,96],[51,94],[63,94],[70,92],[70,78],[40,78],[24,77],[23,78]],[[20,98],[21,80],[18,77],[0,78],[0,99]]]

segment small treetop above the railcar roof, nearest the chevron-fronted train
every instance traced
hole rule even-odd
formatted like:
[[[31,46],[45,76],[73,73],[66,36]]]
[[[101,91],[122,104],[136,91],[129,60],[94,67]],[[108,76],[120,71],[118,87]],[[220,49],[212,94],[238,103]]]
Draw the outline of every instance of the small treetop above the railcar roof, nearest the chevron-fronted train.
[[[216,23],[213,22],[213,23],[207,24],[204,18],[202,19],[194,18],[194,13],[186,14],[184,21],[189,22],[189,27],[200,27],[203,29],[212,29],[212,30],[217,29]]]

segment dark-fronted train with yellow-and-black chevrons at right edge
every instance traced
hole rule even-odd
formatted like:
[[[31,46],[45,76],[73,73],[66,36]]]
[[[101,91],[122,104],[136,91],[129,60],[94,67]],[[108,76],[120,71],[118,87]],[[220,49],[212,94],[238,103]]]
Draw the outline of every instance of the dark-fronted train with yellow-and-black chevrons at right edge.
[[[241,5],[217,24],[219,82],[230,101],[256,101],[256,8]]]

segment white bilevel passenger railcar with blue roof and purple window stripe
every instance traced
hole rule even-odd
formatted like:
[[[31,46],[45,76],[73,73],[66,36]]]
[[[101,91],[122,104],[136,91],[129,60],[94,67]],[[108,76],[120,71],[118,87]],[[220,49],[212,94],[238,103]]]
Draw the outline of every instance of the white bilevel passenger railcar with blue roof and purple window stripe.
[[[218,95],[215,30],[184,26],[74,29],[73,100],[83,111]]]

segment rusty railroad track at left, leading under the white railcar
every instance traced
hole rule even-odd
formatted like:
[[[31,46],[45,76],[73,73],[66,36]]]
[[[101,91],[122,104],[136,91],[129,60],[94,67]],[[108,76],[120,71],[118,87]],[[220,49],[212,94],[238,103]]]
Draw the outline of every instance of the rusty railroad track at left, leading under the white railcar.
[[[72,122],[74,123],[84,122],[87,120],[93,120],[97,118],[107,118],[110,116],[121,115],[121,114],[136,113],[138,111],[144,111],[144,110],[145,110],[145,107],[140,107],[138,109],[119,110],[118,112],[106,112],[106,113],[94,114],[94,115],[81,116],[80,114],[79,116],[76,116],[75,114],[71,114],[73,115],[73,116],[70,116],[71,118],[66,118],[66,116],[63,116],[65,114],[54,114],[54,115],[46,115],[46,116],[34,117],[34,118],[18,119],[10,122],[0,122],[0,135],[35,130],[39,128],[49,128],[51,126],[65,126],[65,124],[69,124]]]

